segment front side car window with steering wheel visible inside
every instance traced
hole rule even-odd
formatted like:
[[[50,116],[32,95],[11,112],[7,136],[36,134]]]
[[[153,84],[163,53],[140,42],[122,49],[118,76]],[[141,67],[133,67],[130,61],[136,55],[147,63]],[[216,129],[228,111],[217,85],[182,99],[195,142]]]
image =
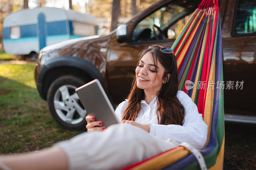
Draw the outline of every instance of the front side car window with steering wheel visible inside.
[[[184,17],[185,11],[179,5],[168,4],[153,12],[135,26],[132,41],[175,39],[189,19],[188,16]]]

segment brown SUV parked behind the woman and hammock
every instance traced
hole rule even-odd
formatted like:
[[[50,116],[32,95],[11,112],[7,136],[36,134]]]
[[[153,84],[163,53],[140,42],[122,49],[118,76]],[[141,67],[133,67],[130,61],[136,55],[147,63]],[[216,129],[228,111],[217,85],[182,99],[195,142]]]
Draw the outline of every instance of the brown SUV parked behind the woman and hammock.
[[[200,0],[161,0],[108,35],[43,48],[35,79],[55,120],[67,128],[84,128],[86,111],[75,89],[95,78],[100,80],[113,106],[124,100],[140,51],[151,44],[171,47],[199,3]],[[219,7],[225,120],[256,123],[256,2],[220,0]],[[240,82],[238,88],[236,82]]]

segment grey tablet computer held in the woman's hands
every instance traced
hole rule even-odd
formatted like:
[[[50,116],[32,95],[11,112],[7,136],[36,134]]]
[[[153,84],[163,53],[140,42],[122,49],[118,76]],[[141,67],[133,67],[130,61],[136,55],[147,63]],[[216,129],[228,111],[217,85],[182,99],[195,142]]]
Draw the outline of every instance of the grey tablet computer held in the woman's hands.
[[[116,117],[115,109],[98,79],[78,87],[76,94],[83,104],[86,113],[94,116],[96,121],[101,121],[102,126],[108,127],[112,124],[120,123]]]

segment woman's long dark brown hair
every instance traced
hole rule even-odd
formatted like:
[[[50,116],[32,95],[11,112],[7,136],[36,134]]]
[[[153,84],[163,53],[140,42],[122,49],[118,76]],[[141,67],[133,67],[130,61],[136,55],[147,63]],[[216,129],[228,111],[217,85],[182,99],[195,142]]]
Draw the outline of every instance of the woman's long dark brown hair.
[[[146,48],[142,51],[140,59],[147,52],[150,52],[155,65],[157,62],[160,62],[164,67],[163,79],[167,80],[167,74],[171,74],[169,81],[164,83],[161,90],[157,92],[158,108],[156,110],[156,115],[158,124],[182,125],[184,122],[185,109],[176,96],[179,88],[176,57],[174,54],[161,52],[160,48]],[[139,65],[140,59],[137,66]],[[122,120],[135,121],[141,109],[140,102],[141,100],[144,100],[144,98],[144,90],[137,87],[135,76],[132,82],[131,92],[128,95],[128,105],[124,110]]]

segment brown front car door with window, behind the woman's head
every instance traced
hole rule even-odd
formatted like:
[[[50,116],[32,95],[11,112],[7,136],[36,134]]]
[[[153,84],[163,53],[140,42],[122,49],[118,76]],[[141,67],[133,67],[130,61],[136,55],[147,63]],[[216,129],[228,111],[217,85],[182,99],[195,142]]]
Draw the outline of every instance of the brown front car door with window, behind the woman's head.
[[[116,104],[126,99],[131,89],[140,52],[152,44],[171,47],[198,3],[192,0],[161,1],[126,23],[129,34],[127,42],[118,43],[116,34],[113,34],[107,75],[109,92]]]

